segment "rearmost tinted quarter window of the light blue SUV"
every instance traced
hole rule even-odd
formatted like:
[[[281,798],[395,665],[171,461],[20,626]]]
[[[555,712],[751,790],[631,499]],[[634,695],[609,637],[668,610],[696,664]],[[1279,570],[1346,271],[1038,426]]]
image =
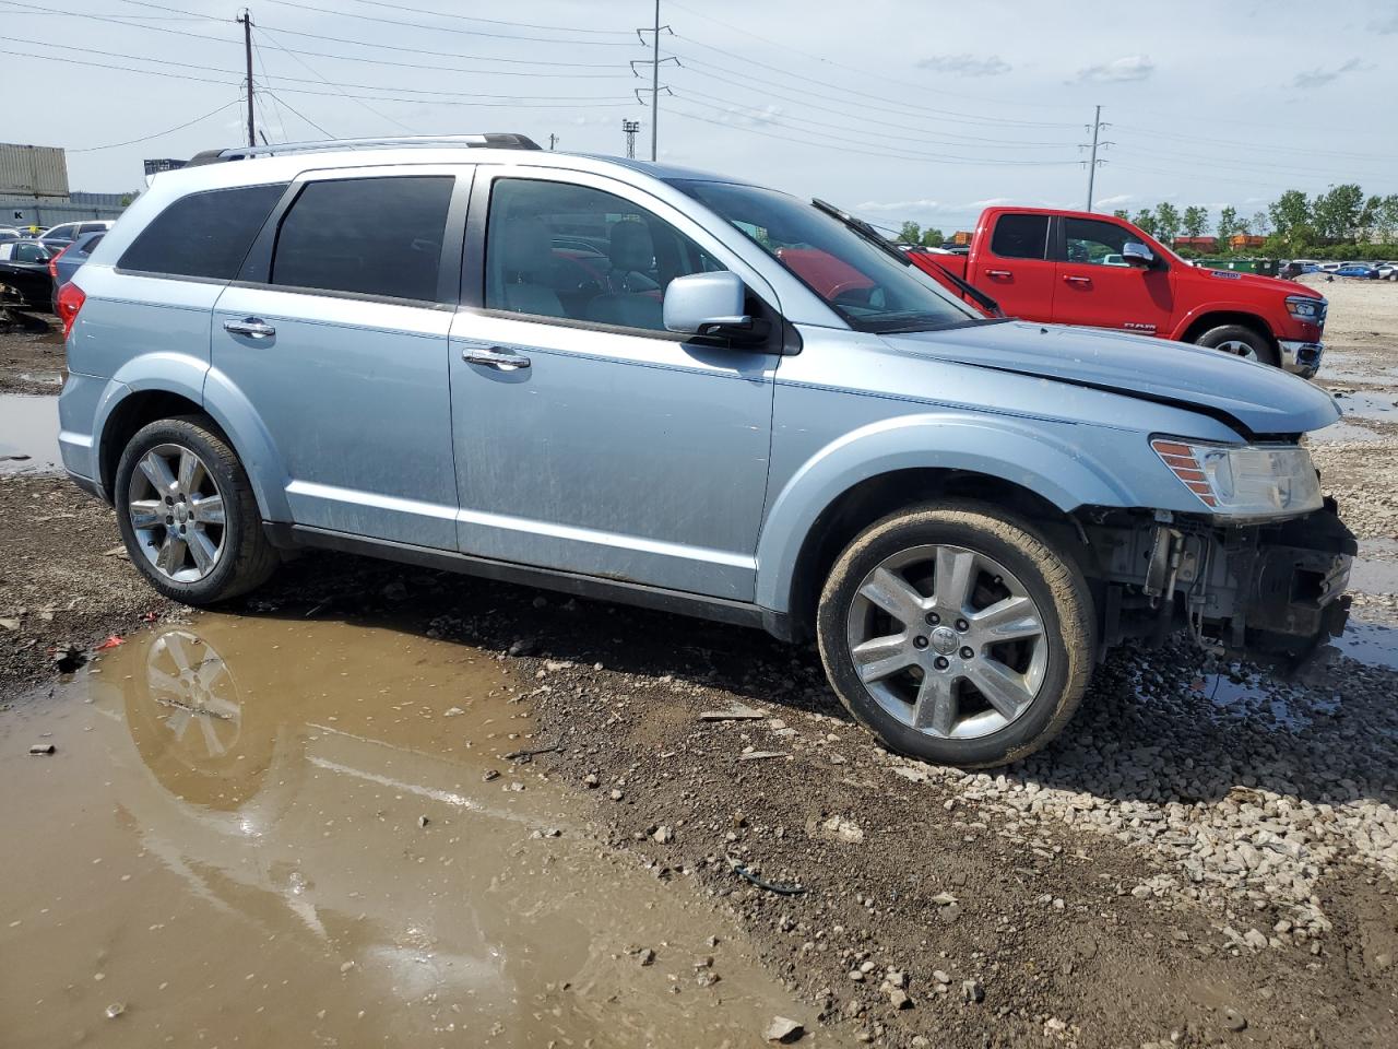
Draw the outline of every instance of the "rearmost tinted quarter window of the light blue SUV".
[[[190,193],[161,211],[117,269],[231,281],[287,183]]]

